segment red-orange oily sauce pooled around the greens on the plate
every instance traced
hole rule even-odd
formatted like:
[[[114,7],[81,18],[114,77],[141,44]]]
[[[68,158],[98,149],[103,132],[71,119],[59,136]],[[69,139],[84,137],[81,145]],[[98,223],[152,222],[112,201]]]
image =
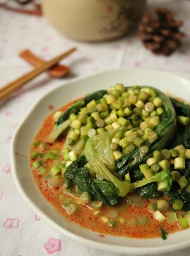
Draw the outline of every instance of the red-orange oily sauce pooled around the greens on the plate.
[[[72,104],[72,102],[70,103]],[[63,106],[60,110],[65,112],[70,104]],[[46,140],[46,137],[52,131],[54,125],[53,113],[45,120],[41,129],[39,129],[38,133],[36,134],[34,141],[39,140],[41,142]],[[61,140],[55,141],[52,145],[49,145],[48,151],[52,149],[59,150],[60,159],[63,160],[61,155],[61,149],[64,145],[64,138]],[[39,147],[34,147],[31,145],[31,152],[43,152],[46,153],[45,150],[40,149]],[[126,203],[125,201],[120,199],[119,203],[114,207],[108,207],[103,205],[99,209],[89,209],[86,205],[78,204],[79,200],[77,198],[71,197],[71,195],[63,193],[63,186],[60,187],[50,187],[48,180],[44,180],[46,175],[40,175],[38,169],[32,168],[32,163],[35,160],[31,160],[31,169],[34,176],[35,183],[37,184],[39,190],[46,198],[50,204],[53,205],[59,211],[63,218],[68,219],[76,223],[85,229],[90,229],[94,232],[98,232],[100,234],[109,234],[111,236],[123,236],[123,237],[133,237],[133,238],[156,238],[160,237],[160,227],[166,233],[173,233],[180,228],[178,227],[177,222],[170,223],[167,221],[158,222],[154,219],[152,212],[149,211],[149,204],[151,202],[149,200],[145,200],[144,207],[138,207],[136,205],[132,205]],[[45,159],[43,164],[46,166],[47,170],[50,170],[53,166],[54,160],[52,159]],[[62,195],[63,198],[60,198]],[[64,208],[61,207],[61,204],[65,202],[68,198],[72,198],[73,203],[78,206],[78,212],[76,214],[68,215],[65,212]],[[104,216],[111,221],[113,218],[109,216],[110,211],[114,209],[117,212],[117,216],[114,218],[116,219],[116,224],[114,227],[108,225],[108,223],[103,222],[101,216]],[[98,211],[100,211],[98,213]],[[142,222],[142,219],[144,222]]]

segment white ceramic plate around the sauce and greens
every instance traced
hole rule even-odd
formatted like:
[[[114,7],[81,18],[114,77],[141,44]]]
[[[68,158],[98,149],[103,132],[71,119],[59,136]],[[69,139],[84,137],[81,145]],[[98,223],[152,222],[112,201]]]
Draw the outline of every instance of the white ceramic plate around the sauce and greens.
[[[98,233],[82,229],[74,223],[66,221],[43,198],[34,183],[28,155],[32,138],[50,114],[48,106],[53,105],[55,109],[60,108],[72,99],[108,88],[115,83],[124,83],[125,86],[137,84],[154,86],[165,93],[169,91],[189,101],[190,82],[174,74],[160,71],[114,69],[72,80],[70,83],[52,90],[36,102],[14,134],[11,147],[11,165],[16,186],[25,201],[47,224],[87,246],[112,253],[125,254],[158,254],[186,248],[190,246],[190,229],[169,234],[165,241],[162,239],[100,237]]]

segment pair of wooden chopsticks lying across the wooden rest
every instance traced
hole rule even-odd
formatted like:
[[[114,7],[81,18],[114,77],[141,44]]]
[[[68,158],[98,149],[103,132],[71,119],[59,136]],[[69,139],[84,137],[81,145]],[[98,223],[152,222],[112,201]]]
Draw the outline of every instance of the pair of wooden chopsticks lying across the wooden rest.
[[[35,67],[35,69],[33,69],[32,71],[24,74],[23,76],[19,77],[18,79],[14,80],[14,81],[6,84],[6,86],[1,87],[0,88],[0,101],[2,99],[6,99],[14,91],[16,91],[20,87],[24,86],[25,83],[32,80],[34,77],[38,76],[38,74],[41,74],[46,69],[49,69],[49,67],[55,65],[57,62],[61,61],[61,59],[70,55],[75,50],[76,50],[76,48],[71,48],[67,52],[64,52],[63,54],[53,58],[52,60],[43,63],[41,66]]]

